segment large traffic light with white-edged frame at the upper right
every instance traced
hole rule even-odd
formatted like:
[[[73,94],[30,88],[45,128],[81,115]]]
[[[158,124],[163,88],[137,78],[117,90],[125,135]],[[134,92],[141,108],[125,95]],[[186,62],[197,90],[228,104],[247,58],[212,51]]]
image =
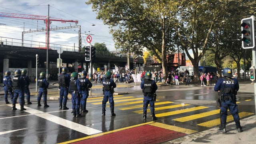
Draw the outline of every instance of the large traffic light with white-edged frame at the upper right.
[[[242,26],[242,47],[254,48],[255,38],[254,38],[254,21],[255,17],[251,16],[250,18],[244,18],[241,20]]]

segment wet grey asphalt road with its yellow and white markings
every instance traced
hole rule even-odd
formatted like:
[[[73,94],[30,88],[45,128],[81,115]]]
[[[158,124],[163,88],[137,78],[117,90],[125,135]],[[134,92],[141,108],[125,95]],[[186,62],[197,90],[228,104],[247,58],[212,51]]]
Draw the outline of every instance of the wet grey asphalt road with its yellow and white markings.
[[[107,105],[106,116],[101,116],[102,91],[100,85],[94,84],[92,96],[88,98],[88,113],[83,113],[82,118],[73,118],[71,114],[71,101],[68,100],[69,110],[59,109],[58,100],[48,100],[49,108],[37,107],[36,95],[32,96],[31,105],[25,105],[25,111],[12,111],[11,104],[5,104],[0,98],[0,139],[3,143],[55,144],[94,136],[121,128],[128,128],[151,122],[150,111],[147,120],[142,119],[142,92],[137,86],[120,85],[115,89],[114,96],[116,116],[110,116]],[[218,126],[219,110],[216,106],[216,92],[213,86],[201,87],[190,84],[189,86],[159,86],[155,104],[155,122],[186,129],[186,134],[200,132]],[[238,108],[240,117],[246,118],[255,113],[254,94],[246,92],[248,86],[240,84],[242,92],[238,93]],[[34,91],[32,88],[30,91]],[[124,94],[122,92],[128,92]],[[58,98],[58,88],[52,86],[48,90],[48,98]],[[17,104],[17,108],[19,108]],[[201,116],[200,114],[208,114]],[[190,116],[197,116],[191,118]],[[232,120],[231,120],[232,121]],[[230,121],[230,122],[231,122]],[[215,123],[216,122],[216,123]]]

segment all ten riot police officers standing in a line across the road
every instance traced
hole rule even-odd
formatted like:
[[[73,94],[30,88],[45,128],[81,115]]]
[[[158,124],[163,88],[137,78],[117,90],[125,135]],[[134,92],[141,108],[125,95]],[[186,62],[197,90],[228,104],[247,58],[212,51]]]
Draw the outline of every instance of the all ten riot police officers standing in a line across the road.
[[[26,110],[24,108],[24,94],[26,93],[26,99],[28,104],[32,104],[30,102],[30,91],[29,91],[29,84],[31,82],[30,78],[26,76],[26,70],[16,70],[14,72],[13,82],[10,78],[10,71],[6,71],[4,74],[4,100],[6,104],[9,104],[7,96],[8,93],[10,94],[10,98],[12,100],[12,110],[17,110],[16,108],[16,101],[17,98],[20,98],[20,111]],[[227,132],[226,130],[226,119],[227,119],[227,111],[230,110],[234,121],[236,123],[236,128],[238,132],[242,132],[242,127],[240,125],[240,118],[238,115],[238,108],[236,105],[236,94],[239,90],[239,84],[236,78],[232,76],[232,70],[230,68],[224,68],[222,71],[224,78],[218,79],[216,85],[214,86],[214,90],[219,92],[220,95],[220,128],[218,131],[220,132]],[[112,73],[106,72],[103,81],[102,81],[102,91],[104,94],[102,100],[102,116],[106,115],[106,103],[109,101],[110,103],[110,111],[111,116],[116,116],[114,113],[114,88],[116,88],[116,84],[114,80],[111,78]],[[40,73],[40,77],[37,80],[38,86],[40,87],[38,93],[38,106],[41,106],[40,100],[42,95],[44,107],[49,107],[47,105],[47,88],[49,86],[49,82],[46,80],[45,72]],[[60,109],[68,110],[69,108],[66,106],[68,93],[72,96],[72,113],[73,117],[82,117],[83,115],[80,114],[81,112],[88,112],[86,110],[86,100],[89,96],[89,90],[92,87],[92,83],[88,79],[88,73],[84,70],[81,72],[81,75],[78,72],[73,72],[70,76],[68,74],[68,68],[62,68],[62,72],[58,77],[58,84],[60,88]],[[156,96],[155,92],[158,89],[156,82],[152,80],[152,74],[150,71],[145,73],[144,80],[142,80],[140,85],[144,99],[143,99],[143,119],[146,120],[147,118],[147,108],[148,104],[150,104],[150,111],[152,115],[152,120],[157,120],[155,116],[155,108],[154,108],[154,101]]]

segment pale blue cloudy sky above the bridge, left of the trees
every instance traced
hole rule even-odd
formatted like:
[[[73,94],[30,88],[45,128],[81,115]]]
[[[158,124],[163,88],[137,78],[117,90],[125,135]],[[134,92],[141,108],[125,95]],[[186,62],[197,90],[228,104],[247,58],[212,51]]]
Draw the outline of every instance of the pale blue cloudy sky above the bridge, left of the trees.
[[[92,6],[85,4],[86,1],[88,0],[0,0],[0,15],[2,12],[4,14],[48,16],[49,10],[49,16],[52,19],[78,20],[78,24],[52,21],[50,28],[81,26],[82,47],[89,44],[86,37],[90,34],[92,45],[96,42],[104,43],[108,50],[115,51],[108,26],[104,25],[102,20],[96,19],[96,12],[92,12]],[[50,5],[49,9],[48,4]],[[22,39],[23,31],[41,30],[42,28],[46,28],[44,20],[0,16],[0,37],[4,42],[7,41],[7,38]],[[78,30],[79,28],[51,30],[49,41],[54,44],[78,46]],[[46,32],[25,33],[24,40],[46,42]]]

